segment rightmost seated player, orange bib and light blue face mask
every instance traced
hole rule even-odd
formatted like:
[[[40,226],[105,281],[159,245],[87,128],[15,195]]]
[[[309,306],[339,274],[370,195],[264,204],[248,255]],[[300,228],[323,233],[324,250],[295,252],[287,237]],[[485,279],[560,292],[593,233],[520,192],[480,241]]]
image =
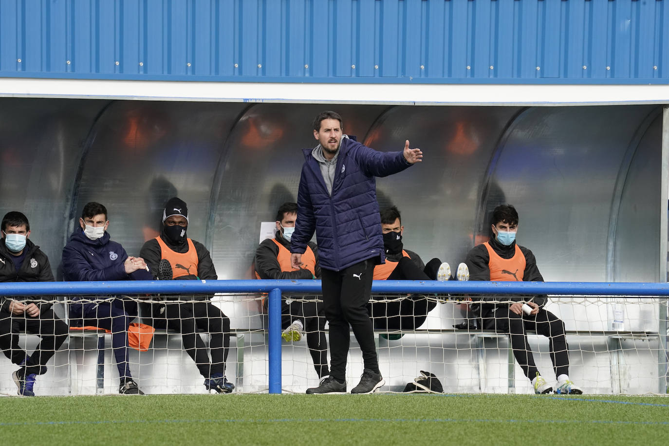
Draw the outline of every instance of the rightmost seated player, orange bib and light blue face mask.
[[[492,238],[474,247],[467,254],[466,263],[470,280],[492,282],[543,282],[535,255],[516,243],[518,212],[512,205],[500,205],[492,213]],[[492,300],[493,298],[484,298]],[[549,338],[551,361],[555,369],[557,384],[555,393],[581,394],[569,380],[569,350],[565,337],[565,324],[555,314],[545,310],[547,296],[533,298],[504,296],[494,300],[511,300],[512,304],[472,304],[472,312],[482,318],[482,326],[510,336],[516,362],[535,388],[535,393],[551,393],[553,386],[539,374],[527,342],[527,330]],[[526,311],[523,302],[528,300]]]

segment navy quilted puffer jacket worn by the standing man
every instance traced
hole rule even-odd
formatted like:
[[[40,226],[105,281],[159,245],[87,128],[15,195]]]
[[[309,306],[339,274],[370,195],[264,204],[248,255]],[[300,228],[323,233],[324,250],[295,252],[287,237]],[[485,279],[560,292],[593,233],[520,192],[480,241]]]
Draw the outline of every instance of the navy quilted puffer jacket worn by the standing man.
[[[406,169],[410,164],[403,152],[377,152],[353,136],[342,138],[330,197],[312,150],[303,150],[298,217],[290,251],[304,253],[316,231],[322,268],[340,271],[372,257],[385,262],[375,177]]]

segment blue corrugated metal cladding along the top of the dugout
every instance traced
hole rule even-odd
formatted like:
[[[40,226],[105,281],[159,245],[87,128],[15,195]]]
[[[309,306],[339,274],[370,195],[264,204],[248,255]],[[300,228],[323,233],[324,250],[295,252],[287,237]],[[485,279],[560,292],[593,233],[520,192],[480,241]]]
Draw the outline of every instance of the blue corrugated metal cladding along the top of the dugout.
[[[668,0],[3,0],[0,76],[667,83]]]

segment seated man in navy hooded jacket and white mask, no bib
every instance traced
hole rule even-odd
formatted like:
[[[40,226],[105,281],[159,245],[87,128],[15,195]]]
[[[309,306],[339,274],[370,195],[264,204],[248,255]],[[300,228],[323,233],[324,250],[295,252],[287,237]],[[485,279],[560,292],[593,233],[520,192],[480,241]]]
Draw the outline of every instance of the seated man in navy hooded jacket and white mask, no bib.
[[[94,201],[87,203],[79,225],[63,248],[63,277],[70,282],[110,280],[153,280],[141,257],[129,257],[125,249],[110,239],[107,209]],[[120,296],[76,296],[80,301],[68,306],[70,324],[94,326],[112,332],[112,350],[123,395],[144,395],[132,380],[128,359],[128,326],[137,316],[137,303]],[[92,301],[92,302],[91,302]]]

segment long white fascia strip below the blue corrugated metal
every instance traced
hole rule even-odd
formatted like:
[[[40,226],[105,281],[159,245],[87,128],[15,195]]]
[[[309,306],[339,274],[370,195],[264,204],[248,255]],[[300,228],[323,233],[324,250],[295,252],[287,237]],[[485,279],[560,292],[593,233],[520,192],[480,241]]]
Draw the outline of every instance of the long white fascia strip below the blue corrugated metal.
[[[669,104],[669,85],[298,84],[0,78],[0,96],[303,104],[564,106]]]

